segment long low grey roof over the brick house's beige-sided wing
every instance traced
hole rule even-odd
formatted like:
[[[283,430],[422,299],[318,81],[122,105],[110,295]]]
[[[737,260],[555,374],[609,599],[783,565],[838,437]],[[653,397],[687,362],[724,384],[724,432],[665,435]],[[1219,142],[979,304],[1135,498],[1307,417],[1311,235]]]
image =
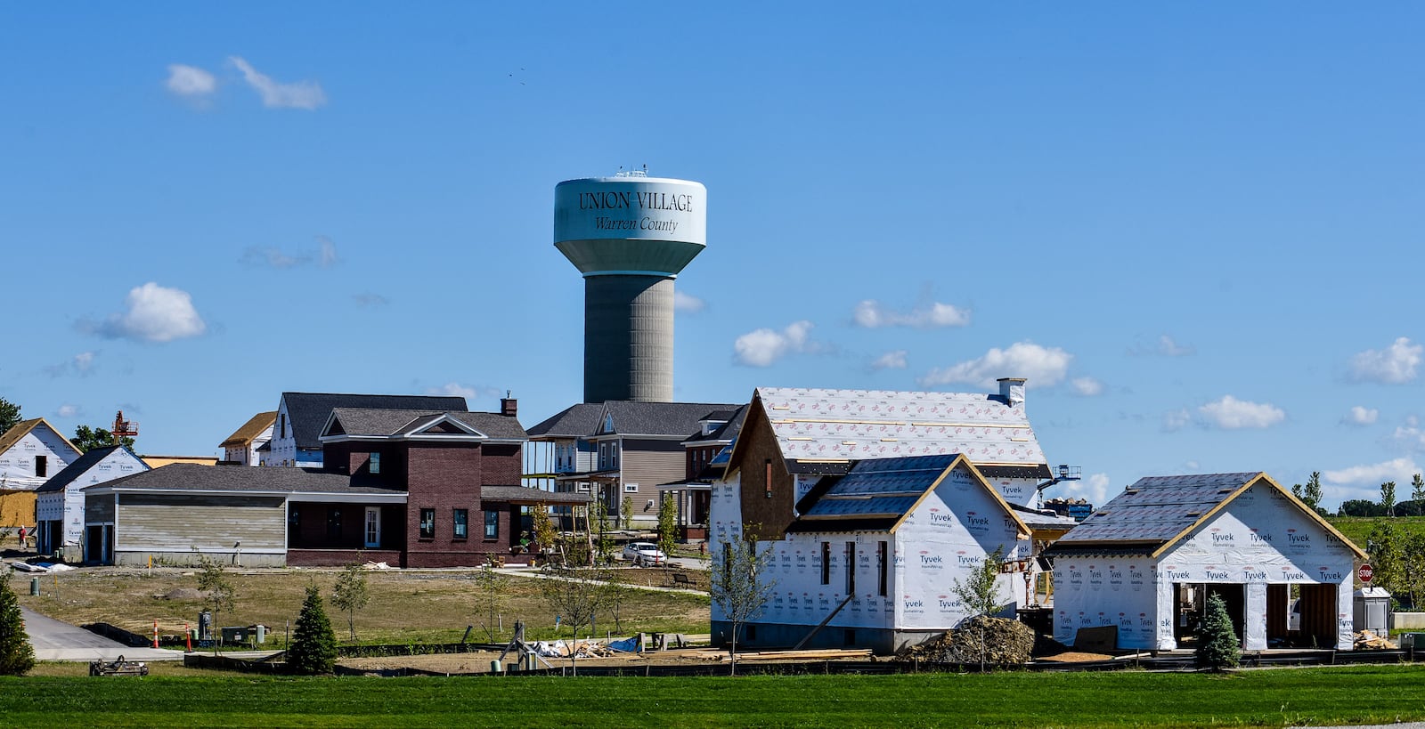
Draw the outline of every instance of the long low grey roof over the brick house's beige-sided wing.
[[[198,466],[175,463],[86,487],[86,493],[117,491],[239,491],[400,494],[399,488],[352,486],[349,476],[316,468],[248,468],[242,466]]]

